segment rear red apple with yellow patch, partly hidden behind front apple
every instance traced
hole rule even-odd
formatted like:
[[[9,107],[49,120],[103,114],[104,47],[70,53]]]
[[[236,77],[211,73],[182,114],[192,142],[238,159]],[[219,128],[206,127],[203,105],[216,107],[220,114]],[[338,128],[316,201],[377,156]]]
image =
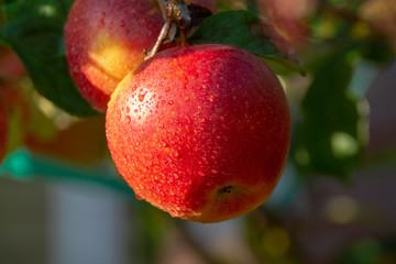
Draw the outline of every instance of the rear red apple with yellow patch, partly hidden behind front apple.
[[[197,2],[216,11],[213,0]],[[82,97],[105,112],[111,92],[144,61],[164,20],[152,0],[76,0],[65,24],[69,73]]]

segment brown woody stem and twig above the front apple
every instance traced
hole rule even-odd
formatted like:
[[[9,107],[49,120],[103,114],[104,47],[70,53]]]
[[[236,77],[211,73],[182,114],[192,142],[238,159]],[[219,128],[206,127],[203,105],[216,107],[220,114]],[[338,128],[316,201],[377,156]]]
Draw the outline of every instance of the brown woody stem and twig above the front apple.
[[[191,14],[185,0],[156,0],[165,24],[154,44],[154,47],[146,54],[145,59],[153,57],[161,48],[166,36],[174,41],[176,32],[170,29],[178,29],[182,37],[182,45],[187,45],[187,31],[191,25]],[[169,33],[170,32],[170,33]]]

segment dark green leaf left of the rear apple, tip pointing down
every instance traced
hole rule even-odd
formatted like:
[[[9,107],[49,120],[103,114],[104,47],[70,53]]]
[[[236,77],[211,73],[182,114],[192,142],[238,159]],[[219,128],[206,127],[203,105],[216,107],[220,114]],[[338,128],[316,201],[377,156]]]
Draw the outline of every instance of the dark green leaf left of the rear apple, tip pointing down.
[[[75,116],[96,113],[82,99],[69,74],[62,23],[44,16],[14,20],[0,29],[0,40],[23,62],[36,90]]]

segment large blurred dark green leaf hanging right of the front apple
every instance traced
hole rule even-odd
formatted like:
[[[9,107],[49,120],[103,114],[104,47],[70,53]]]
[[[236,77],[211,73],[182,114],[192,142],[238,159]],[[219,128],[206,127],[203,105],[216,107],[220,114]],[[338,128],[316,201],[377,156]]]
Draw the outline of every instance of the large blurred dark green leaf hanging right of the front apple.
[[[364,98],[353,97],[353,65],[349,48],[341,48],[314,72],[302,102],[293,154],[306,172],[345,179],[361,163],[367,135]],[[362,107],[363,106],[363,107]]]

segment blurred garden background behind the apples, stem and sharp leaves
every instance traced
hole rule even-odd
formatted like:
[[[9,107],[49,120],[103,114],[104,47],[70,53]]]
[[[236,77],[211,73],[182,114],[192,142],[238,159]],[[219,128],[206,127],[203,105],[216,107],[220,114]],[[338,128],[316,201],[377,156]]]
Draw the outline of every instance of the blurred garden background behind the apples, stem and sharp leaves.
[[[274,45],[307,75],[273,66],[293,118],[274,194],[216,224],[138,200],[109,156],[105,117],[73,117],[36,91],[21,46],[4,32],[22,9],[51,16],[59,2],[73,1],[1,2],[10,139],[0,167],[0,263],[396,263],[395,0],[218,0],[219,11],[264,18]]]

